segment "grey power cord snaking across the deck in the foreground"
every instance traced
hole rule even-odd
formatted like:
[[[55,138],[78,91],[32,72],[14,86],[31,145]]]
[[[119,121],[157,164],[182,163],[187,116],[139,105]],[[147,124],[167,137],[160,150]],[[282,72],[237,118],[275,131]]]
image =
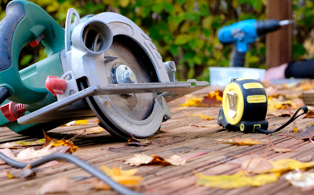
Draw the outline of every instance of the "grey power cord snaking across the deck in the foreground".
[[[52,155],[46,156],[46,157],[44,157],[38,161],[32,162],[32,163],[23,163],[23,162],[14,161],[0,152],[0,159],[5,161],[8,165],[11,165],[11,166],[14,166],[14,167],[17,167],[20,169],[24,168],[28,164],[30,164],[30,166],[32,168],[35,168],[37,166],[43,165],[43,164],[50,162],[50,161],[64,160],[64,161],[72,162],[73,164],[81,167],[82,169],[84,169],[85,171],[94,175],[95,177],[99,178],[101,181],[107,183],[112,189],[116,190],[117,192],[119,192],[123,195],[145,195],[145,194],[141,194],[141,193],[138,193],[134,190],[131,190],[131,189],[128,189],[126,187],[121,186],[117,182],[113,181],[106,174],[98,171],[93,166],[90,166],[86,162],[76,158],[73,155],[69,155],[69,154],[52,154]]]

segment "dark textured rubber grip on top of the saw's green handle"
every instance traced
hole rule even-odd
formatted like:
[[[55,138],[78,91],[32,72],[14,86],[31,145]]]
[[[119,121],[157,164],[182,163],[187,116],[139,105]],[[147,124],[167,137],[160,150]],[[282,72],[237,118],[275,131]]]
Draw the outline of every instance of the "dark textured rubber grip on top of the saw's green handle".
[[[25,16],[24,6],[19,2],[7,5],[6,16],[0,22],[0,71],[11,67],[11,45],[14,31]]]

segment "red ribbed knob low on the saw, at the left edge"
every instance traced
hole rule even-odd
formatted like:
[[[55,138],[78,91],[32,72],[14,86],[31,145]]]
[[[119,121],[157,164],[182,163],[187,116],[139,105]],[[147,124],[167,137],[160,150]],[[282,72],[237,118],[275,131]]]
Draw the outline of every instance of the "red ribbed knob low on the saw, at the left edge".
[[[0,110],[5,118],[7,118],[10,122],[16,121],[16,119],[25,115],[24,104],[9,102],[0,107]]]

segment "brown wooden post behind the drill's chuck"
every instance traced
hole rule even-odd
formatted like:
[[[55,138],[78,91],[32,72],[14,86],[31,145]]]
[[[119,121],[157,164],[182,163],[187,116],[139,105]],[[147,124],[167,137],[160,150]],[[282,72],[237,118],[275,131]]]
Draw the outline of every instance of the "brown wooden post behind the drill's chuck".
[[[292,0],[268,0],[267,19],[292,19]],[[292,60],[292,24],[266,35],[267,68]]]

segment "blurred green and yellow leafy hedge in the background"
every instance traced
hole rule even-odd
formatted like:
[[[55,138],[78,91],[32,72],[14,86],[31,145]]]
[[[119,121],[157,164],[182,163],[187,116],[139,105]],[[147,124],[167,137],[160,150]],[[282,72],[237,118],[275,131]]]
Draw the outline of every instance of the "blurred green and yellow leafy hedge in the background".
[[[62,27],[69,8],[81,17],[116,12],[133,20],[151,37],[163,61],[176,62],[176,80],[208,81],[209,66],[229,66],[231,46],[223,46],[217,30],[236,21],[266,19],[267,0],[31,0],[45,9]],[[1,1],[0,19],[5,16]],[[314,4],[293,0],[294,59],[314,57]],[[265,37],[251,45],[246,67],[266,68]],[[40,44],[25,45],[19,56],[20,69],[46,57]]]

